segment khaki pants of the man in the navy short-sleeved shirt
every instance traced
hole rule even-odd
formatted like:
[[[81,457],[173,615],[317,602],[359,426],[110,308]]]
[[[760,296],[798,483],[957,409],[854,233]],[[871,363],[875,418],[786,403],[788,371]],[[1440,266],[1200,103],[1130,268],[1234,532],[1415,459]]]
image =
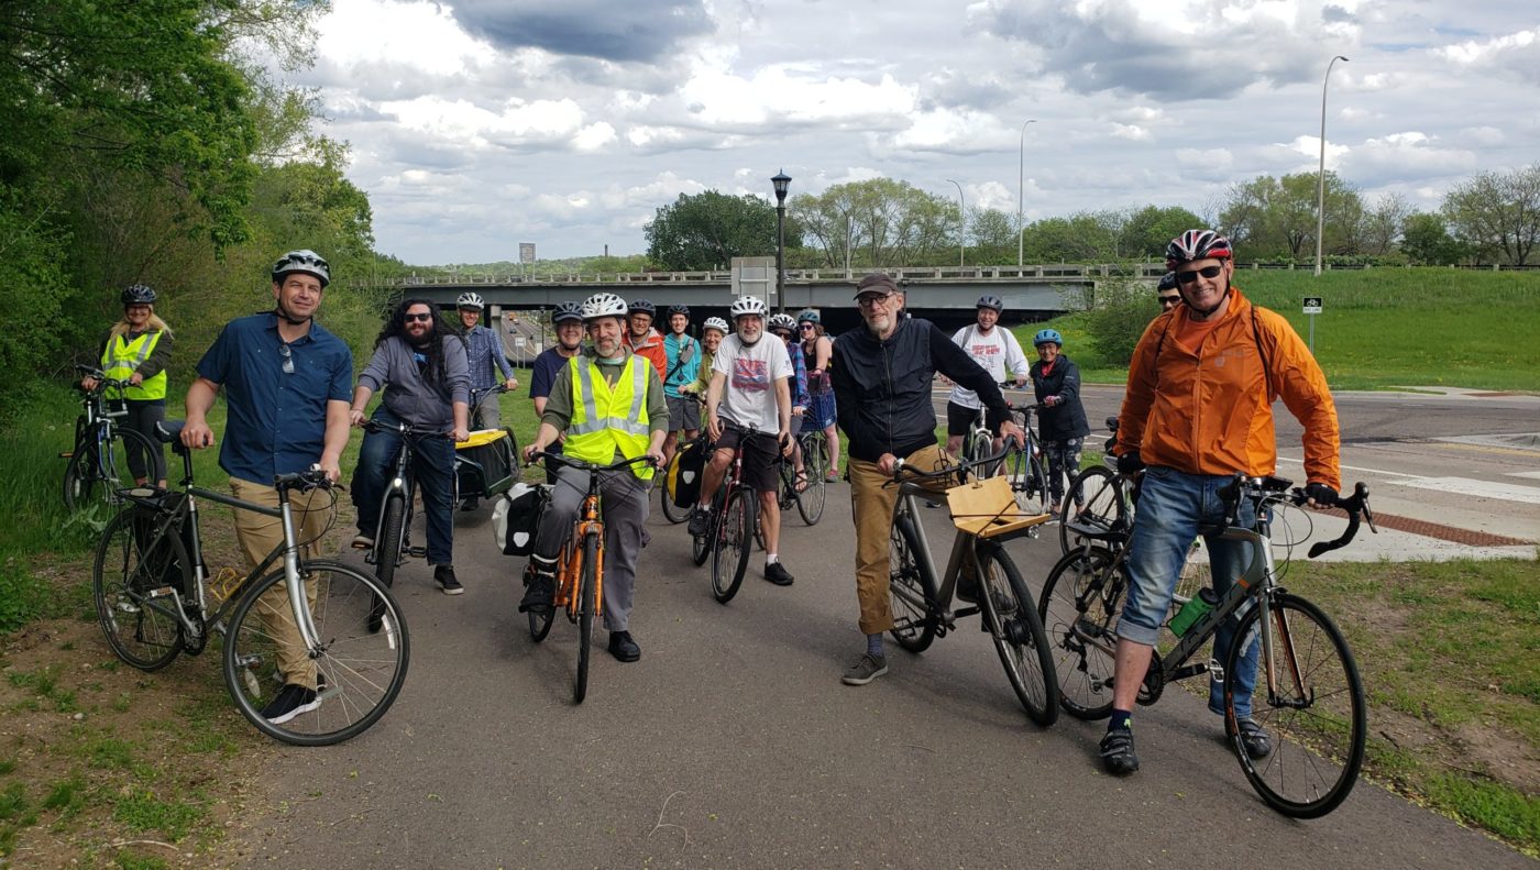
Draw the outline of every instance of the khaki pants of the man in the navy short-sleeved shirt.
[[[273,487],[253,484],[249,480],[229,479],[234,496],[245,502],[256,502],[263,507],[279,507],[279,491]],[[308,559],[320,553],[320,536],[326,531],[330,519],[331,496],[323,490],[310,493],[290,493],[290,505],[294,508],[294,534],[299,540],[311,544],[300,548],[300,559]],[[283,520],[276,516],[265,516],[253,511],[236,511],[236,540],[240,553],[246,557],[246,570],[256,568],[268,557],[274,547],[283,544]],[[283,570],[279,562],[270,570]],[[316,582],[305,584],[311,608],[316,607]],[[283,682],[316,688],[316,661],[305,651],[299,627],[294,625],[294,610],[290,607],[288,590],[283,584],[270,588],[257,602],[257,614],[266,627],[268,634],[277,647],[277,665],[283,673]]]

